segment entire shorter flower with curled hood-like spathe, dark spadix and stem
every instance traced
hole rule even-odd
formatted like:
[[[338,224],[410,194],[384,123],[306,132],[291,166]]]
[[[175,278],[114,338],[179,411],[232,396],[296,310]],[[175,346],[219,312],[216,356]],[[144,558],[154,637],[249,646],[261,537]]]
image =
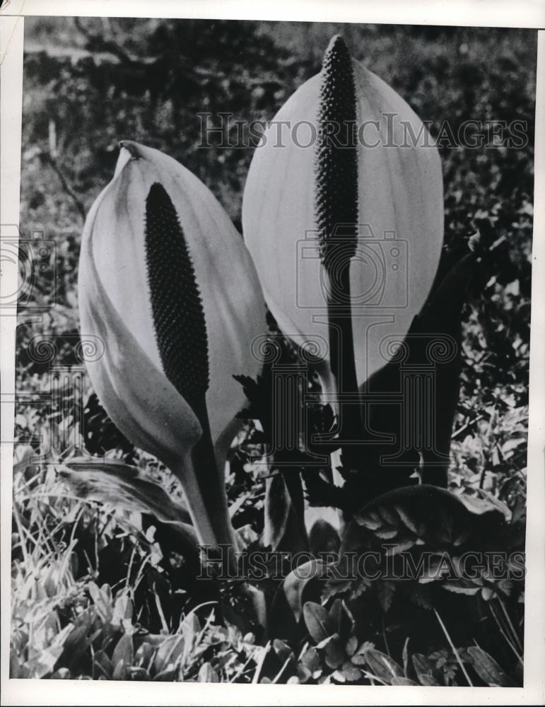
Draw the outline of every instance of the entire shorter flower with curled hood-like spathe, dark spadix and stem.
[[[265,329],[252,260],[223,208],[189,170],[122,143],[93,204],[79,274],[81,331],[104,341],[88,373],[107,413],[180,479],[200,542],[235,543],[224,485],[233,375],[256,376]]]

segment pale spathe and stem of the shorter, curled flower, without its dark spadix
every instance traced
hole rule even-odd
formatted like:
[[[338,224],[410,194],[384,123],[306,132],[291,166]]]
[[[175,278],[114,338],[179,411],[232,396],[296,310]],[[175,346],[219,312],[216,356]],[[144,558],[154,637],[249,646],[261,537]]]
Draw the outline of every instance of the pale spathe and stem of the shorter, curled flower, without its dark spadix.
[[[218,474],[211,494],[223,498],[225,451],[233,419],[247,404],[233,375],[256,377],[262,363],[252,341],[266,331],[262,291],[252,259],[209,189],[176,160],[124,142],[115,175],[88,214],[78,278],[81,332],[100,337],[104,355],[87,364],[90,380],[117,427],[180,478],[201,542],[222,538],[225,518],[203,518],[202,491],[190,454],[201,423],[168,380],[153,325],[146,271],[146,197],[159,183],[175,207],[195,271],[208,338],[206,407]],[[175,307],[176,303],[171,303]],[[223,503],[225,501],[225,503]],[[225,542],[228,539],[223,538]]]

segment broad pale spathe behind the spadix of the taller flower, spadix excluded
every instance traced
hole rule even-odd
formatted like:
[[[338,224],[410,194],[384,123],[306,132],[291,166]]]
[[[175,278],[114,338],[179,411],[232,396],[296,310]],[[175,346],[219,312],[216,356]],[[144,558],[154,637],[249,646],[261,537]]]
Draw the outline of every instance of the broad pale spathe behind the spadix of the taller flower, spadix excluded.
[[[353,71],[362,228],[350,272],[361,385],[388,360],[381,341],[404,337],[430,291],[443,244],[443,176],[421,119],[361,64],[353,62]],[[266,302],[297,344],[328,338],[328,280],[314,233],[312,138],[320,79],[318,74],[300,86],[274,117],[255,148],[242,205],[242,230]],[[322,354],[327,361],[327,351]]]

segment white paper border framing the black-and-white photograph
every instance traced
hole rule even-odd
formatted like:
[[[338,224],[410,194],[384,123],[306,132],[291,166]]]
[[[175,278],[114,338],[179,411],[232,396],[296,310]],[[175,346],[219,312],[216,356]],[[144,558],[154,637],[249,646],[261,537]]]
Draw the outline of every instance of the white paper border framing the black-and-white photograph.
[[[23,24],[25,16],[119,16],[545,27],[532,0],[10,0],[0,10],[0,223],[19,223]],[[1,327],[1,694],[2,705],[477,705],[545,703],[545,31],[538,33],[529,373],[525,686],[523,688],[183,684],[8,678],[10,518],[16,313]],[[1,288],[15,291],[16,263],[2,263]]]

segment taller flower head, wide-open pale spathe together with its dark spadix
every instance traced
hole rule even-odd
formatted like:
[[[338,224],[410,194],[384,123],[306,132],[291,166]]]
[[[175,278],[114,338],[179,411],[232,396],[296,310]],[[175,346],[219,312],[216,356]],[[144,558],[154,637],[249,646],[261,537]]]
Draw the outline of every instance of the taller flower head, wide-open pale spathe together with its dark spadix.
[[[443,178],[421,120],[341,37],[255,149],[242,224],[283,334],[329,341],[322,383],[333,373],[337,390],[355,392],[387,362],[381,341],[402,339],[430,292]]]

